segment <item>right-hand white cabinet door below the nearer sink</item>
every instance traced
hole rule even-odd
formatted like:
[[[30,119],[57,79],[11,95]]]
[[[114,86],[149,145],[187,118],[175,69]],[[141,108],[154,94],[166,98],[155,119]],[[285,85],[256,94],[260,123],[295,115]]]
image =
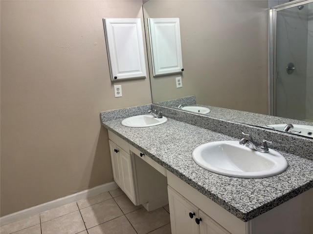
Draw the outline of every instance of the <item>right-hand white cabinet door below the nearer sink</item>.
[[[210,216],[204,214],[201,210],[199,211],[199,217],[201,218],[201,234],[230,234],[220,224],[214,221]]]

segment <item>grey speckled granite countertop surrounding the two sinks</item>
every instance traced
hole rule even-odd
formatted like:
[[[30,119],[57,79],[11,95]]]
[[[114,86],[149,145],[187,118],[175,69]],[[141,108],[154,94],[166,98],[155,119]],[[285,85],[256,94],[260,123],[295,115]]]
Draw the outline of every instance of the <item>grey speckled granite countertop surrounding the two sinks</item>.
[[[148,128],[124,127],[121,120],[102,120],[102,125],[243,221],[313,188],[313,160],[278,151],[289,164],[280,175],[256,179],[222,176],[201,168],[192,152],[203,143],[239,139],[171,118]]]

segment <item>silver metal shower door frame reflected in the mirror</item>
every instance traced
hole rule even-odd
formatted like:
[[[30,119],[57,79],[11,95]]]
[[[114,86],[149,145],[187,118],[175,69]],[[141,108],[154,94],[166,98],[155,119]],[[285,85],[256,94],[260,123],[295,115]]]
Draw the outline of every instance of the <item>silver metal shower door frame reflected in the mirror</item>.
[[[271,116],[276,116],[276,24],[277,12],[304,4],[309,4],[313,0],[294,0],[269,9],[268,14],[268,112]]]

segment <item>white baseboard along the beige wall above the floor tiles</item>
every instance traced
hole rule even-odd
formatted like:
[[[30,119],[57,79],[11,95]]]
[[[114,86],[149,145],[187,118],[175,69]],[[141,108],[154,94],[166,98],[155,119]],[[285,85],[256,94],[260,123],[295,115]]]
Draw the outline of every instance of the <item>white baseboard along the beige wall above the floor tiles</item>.
[[[117,188],[118,186],[115,182],[110,182],[110,183],[99,185],[91,189],[78,192],[76,194],[64,196],[53,201],[49,201],[49,202],[46,202],[37,206],[33,206],[25,210],[12,213],[10,215],[5,215],[5,216],[0,217],[0,226],[9,224],[15,221],[19,221],[24,218],[28,218],[32,215],[38,215],[42,212],[51,210],[53,208],[63,206],[72,202],[76,202],[81,199],[86,199],[90,196],[98,195],[98,194],[108,192],[110,190],[117,189]]]

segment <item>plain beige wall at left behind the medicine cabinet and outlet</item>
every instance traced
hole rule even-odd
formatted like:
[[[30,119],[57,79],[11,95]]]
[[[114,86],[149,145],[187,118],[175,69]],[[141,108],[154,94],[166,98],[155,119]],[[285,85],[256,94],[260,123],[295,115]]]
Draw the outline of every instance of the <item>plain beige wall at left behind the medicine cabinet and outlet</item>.
[[[3,216],[111,182],[99,113],[151,94],[146,78],[118,82],[114,98],[102,24],[142,19],[141,0],[0,4]]]

